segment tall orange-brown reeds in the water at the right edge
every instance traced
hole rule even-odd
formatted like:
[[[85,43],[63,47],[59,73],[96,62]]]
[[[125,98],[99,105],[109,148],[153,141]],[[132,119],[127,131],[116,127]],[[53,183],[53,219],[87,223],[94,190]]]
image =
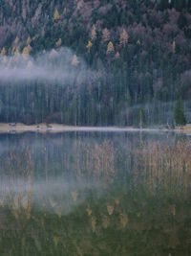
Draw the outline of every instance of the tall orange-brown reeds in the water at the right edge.
[[[150,191],[162,187],[166,191],[180,188],[187,192],[190,188],[191,142],[149,142],[131,153],[134,163],[130,169]]]

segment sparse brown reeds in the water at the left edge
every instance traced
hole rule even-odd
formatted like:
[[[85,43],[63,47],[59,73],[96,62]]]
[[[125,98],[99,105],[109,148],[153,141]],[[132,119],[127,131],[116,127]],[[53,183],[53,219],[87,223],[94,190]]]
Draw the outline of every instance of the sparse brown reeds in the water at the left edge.
[[[0,205],[9,207],[15,218],[22,213],[30,218],[32,211],[33,168],[28,148],[10,153],[2,162],[0,173]]]

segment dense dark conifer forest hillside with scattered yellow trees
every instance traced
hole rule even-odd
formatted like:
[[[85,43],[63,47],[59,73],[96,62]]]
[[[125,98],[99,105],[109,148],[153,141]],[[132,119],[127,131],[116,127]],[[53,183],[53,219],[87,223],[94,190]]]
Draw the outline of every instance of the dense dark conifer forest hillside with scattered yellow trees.
[[[0,49],[0,122],[191,122],[190,0],[1,0]]]

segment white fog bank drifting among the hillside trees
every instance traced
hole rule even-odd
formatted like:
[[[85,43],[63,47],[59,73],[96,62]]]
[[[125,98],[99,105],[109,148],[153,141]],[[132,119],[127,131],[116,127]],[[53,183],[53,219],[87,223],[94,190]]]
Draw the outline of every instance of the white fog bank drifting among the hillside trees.
[[[15,53],[0,57],[0,81],[44,81],[52,84],[83,82],[96,75],[82,58],[68,48],[39,53],[34,57]]]

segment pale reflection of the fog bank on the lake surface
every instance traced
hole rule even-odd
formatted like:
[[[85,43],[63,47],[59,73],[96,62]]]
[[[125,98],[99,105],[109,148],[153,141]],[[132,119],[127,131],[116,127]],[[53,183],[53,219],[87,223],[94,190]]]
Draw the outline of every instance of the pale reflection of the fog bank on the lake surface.
[[[18,178],[12,182],[9,176],[3,177],[0,188],[0,204],[12,210],[26,208],[29,202],[39,211],[46,210],[60,215],[70,214],[76,205],[82,204],[88,197],[88,191],[101,190],[102,184],[90,180],[76,180],[67,176],[49,177],[47,180],[34,180],[32,189],[29,181]]]

